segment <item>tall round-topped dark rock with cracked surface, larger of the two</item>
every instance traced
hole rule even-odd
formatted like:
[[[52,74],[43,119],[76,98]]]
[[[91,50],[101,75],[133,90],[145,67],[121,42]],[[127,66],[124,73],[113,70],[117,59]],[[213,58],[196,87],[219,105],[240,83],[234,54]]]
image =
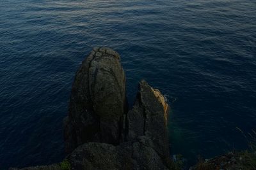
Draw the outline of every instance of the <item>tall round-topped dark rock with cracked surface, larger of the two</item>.
[[[120,56],[110,48],[93,48],[76,73],[68,117],[66,151],[88,141],[120,143],[125,113],[125,74]]]

